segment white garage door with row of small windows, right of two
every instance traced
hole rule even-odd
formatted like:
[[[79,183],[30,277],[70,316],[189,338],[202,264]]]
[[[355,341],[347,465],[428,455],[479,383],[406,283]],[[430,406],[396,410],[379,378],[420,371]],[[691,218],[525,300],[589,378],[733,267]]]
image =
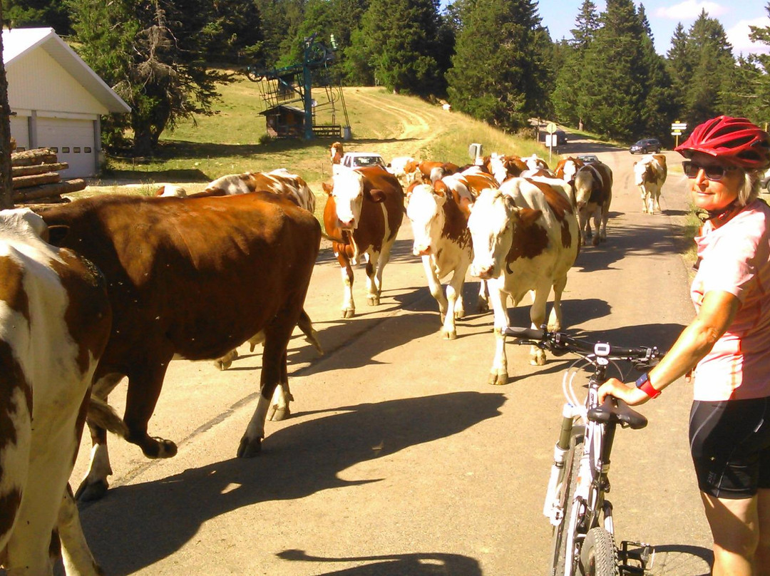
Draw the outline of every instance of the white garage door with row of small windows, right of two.
[[[60,173],[65,178],[94,176],[96,147],[92,120],[38,117],[38,146],[51,148],[59,162],[69,163]]]

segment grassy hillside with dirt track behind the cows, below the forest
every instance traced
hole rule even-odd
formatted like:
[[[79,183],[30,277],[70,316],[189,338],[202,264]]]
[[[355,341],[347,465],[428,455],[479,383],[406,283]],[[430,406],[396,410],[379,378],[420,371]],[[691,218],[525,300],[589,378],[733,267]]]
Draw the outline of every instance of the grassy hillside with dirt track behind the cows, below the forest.
[[[330,178],[328,150],[333,140],[267,139],[264,117],[259,116],[263,101],[258,86],[244,78],[221,85],[220,90],[218,114],[196,116],[165,132],[156,158],[109,159],[103,178],[72,196],[102,191],[151,193],[156,183],[183,183],[194,192],[225,174],[281,167],[296,172],[316,194],[321,193],[320,183]],[[352,87],[344,89],[344,97],[353,135],[344,142],[346,151],[380,152],[387,161],[414,156],[460,165],[470,161],[467,149],[473,142],[480,142],[484,153],[547,154],[532,139],[507,135],[412,96]]]

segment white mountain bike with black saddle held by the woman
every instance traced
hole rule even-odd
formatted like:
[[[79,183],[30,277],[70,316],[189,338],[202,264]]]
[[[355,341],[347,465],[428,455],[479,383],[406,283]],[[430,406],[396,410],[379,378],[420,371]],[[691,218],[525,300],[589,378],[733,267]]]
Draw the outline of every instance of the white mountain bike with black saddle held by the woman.
[[[614,397],[598,401],[598,389],[608,370],[622,371],[619,362],[630,362],[645,371],[662,353],[656,347],[622,348],[610,343],[590,343],[560,332],[508,327],[514,343],[550,350],[554,356],[577,354],[564,372],[562,390],[567,402],[562,410],[561,434],[554,447],[554,464],[543,514],[553,526],[552,576],[596,574],[625,576],[644,574],[652,568],[654,548],[641,542],[615,544],[608,472],[618,424],[638,430],[647,419]],[[588,395],[577,398],[574,380],[588,369]]]

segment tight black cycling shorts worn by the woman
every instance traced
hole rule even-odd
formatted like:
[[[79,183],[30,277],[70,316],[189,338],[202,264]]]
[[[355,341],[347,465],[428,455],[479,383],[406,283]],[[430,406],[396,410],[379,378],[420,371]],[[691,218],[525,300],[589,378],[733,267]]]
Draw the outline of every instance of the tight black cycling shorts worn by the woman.
[[[705,402],[690,410],[690,452],[698,487],[718,498],[770,488],[770,397]]]

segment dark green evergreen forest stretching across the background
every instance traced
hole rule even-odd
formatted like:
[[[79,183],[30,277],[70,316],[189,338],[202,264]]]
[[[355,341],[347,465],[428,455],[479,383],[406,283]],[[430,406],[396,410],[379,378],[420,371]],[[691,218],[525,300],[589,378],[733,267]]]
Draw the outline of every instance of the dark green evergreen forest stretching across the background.
[[[536,0],[2,0],[6,25],[51,26],[132,107],[104,122],[107,146],[152,154],[179,119],[216,112],[216,85],[247,66],[334,49],[343,85],[445,99],[517,132],[554,119],[629,142],[667,142],[674,121],[770,122],[770,54],[735,54],[708,12],[654,50],[644,5],[584,0],[554,40]],[[765,5],[770,15],[770,2]],[[566,16],[565,16],[566,17]],[[770,27],[751,38],[770,45]],[[235,72],[232,72],[235,71]],[[127,130],[128,129],[128,130]],[[670,144],[670,142],[668,142]]]

